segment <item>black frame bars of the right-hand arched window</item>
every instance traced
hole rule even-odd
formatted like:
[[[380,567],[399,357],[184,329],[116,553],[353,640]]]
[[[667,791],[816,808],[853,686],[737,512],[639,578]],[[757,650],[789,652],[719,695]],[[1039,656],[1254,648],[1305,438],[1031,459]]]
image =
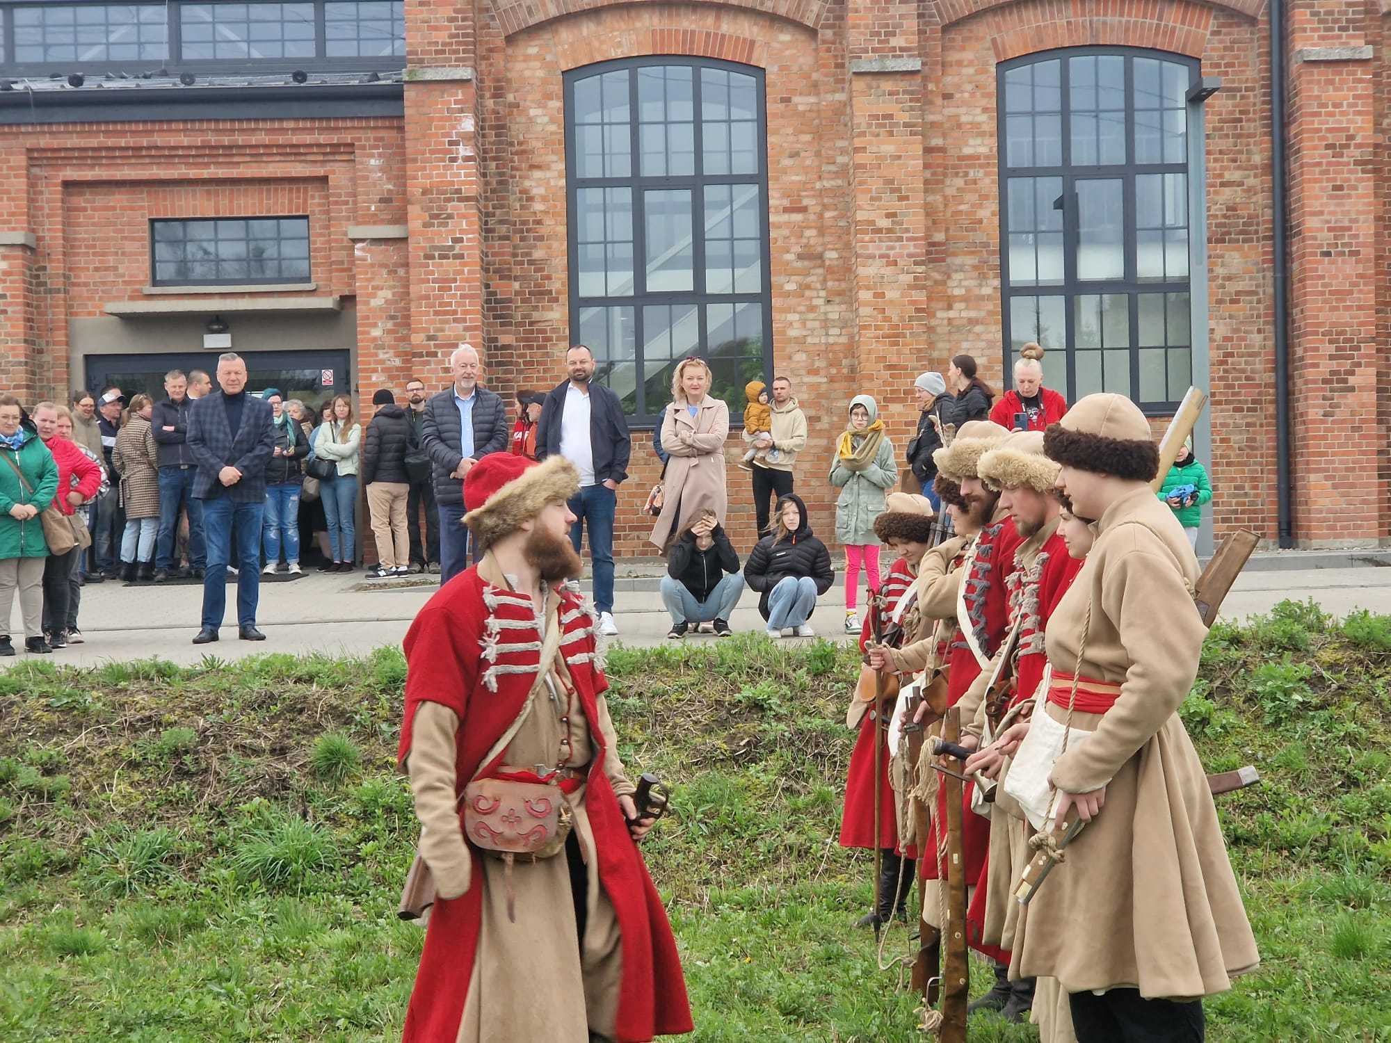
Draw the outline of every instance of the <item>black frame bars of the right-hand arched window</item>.
[[[1070,60],[1078,57],[1121,57],[1125,58],[1124,65],[1124,90],[1125,90],[1125,161],[1118,164],[1075,164],[1070,163],[1071,149],[1072,149],[1072,135],[1071,135],[1071,104],[1070,104]],[[1187,121],[1185,129],[1185,153],[1182,164],[1177,163],[1136,163],[1135,161],[1135,75],[1134,75],[1134,61],[1135,58],[1149,58],[1157,61],[1173,63],[1175,65],[1184,65],[1188,68],[1188,90],[1191,92],[1200,82],[1200,63],[1198,58],[1188,57],[1187,54],[1177,54],[1173,51],[1155,50],[1148,47],[1118,47],[1118,46],[1086,46],[1086,47],[1059,47],[1054,50],[1034,51],[1029,54],[1011,58],[1008,61],[1002,61],[996,65],[996,139],[997,139],[997,193],[1000,207],[1000,342],[1003,352],[1003,364],[1006,380],[1013,374],[1014,366],[1014,349],[1011,346],[1011,307],[1010,302],[1013,298],[1045,298],[1045,296],[1060,296],[1063,298],[1063,314],[1064,314],[1064,357],[1067,364],[1067,388],[1057,388],[1063,391],[1068,402],[1075,399],[1077,388],[1077,352],[1078,350],[1093,350],[1093,349],[1078,349],[1077,345],[1077,300],[1081,296],[1104,296],[1113,293],[1124,293],[1129,299],[1131,305],[1128,307],[1128,324],[1129,324],[1129,392],[1128,398],[1134,401],[1148,416],[1167,416],[1171,414],[1178,407],[1178,401],[1164,401],[1152,402],[1145,401],[1139,395],[1141,389],[1141,345],[1139,345],[1139,321],[1141,309],[1139,298],[1141,293],[1164,293],[1166,306],[1168,293],[1188,293],[1189,295],[1189,366],[1191,371],[1196,369],[1196,359],[1193,356],[1195,345],[1192,343],[1192,330],[1196,325],[1195,316],[1192,314],[1192,257],[1193,257],[1193,213],[1191,200],[1195,197],[1193,192],[1193,170],[1191,163],[1192,156],[1192,120]],[[1046,61],[1059,63],[1059,96],[1060,96],[1060,145],[1061,145],[1061,163],[1057,165],[1027,165],[1027,167],[1010,167],[1008,165],[1008,152],[1007,152],[1007,113],[1006,113],[1006,74],[1011,70],[1017,70],[1027,65],[1035,65]],[[1149,110],[1145,110],[1149,111]],[[1161,110],[1160,110],[1161,111]],[[1145,280],[1141,281],[1136,275],[1136,178],[1153,174],[1178,174],[1185,175],[1185,207],[1187,207],[1187,231],[1188,231],[1188,274],[1182,280]],[[1010,228],[1008,228],[1008,181],[1010,178],[1060,178],[1063,182],[1060,200],[1063,202],[1063,281],[1056,284],[1040,284],[1034,285],[1010,285]],[[1078,280],[1075,264],[1078,256],[1078,239],[1079,239],[1079,217],[1078,217],[1078,203],[1075,184],[1078,181],[1093,181],[1093,179],[1120,179],[1121,181],[1121,206],[1123,206],[1123,257],[1124,257],[1124,274],[1118,280]],[[1199,186],[1200,193],[1206,191],[1206,186]],[[1200,195],[1199,193],[1199,195]],[[1181,345],[1180,345],[1181,346]],[[1166,352],[1168,346],[1166,346]],[[1097,355],[1104,359],[1103,352],[1097,350]],[[1166,355],[1167,363],[1167,355]],[[1104,364],[1104,363],[1102,363]],[[1166,370],[1167,374],[1167,370]],[[1103,375],[1104,381],[1104,375]],[[1103,382],[1104,387],[1104,382]]]

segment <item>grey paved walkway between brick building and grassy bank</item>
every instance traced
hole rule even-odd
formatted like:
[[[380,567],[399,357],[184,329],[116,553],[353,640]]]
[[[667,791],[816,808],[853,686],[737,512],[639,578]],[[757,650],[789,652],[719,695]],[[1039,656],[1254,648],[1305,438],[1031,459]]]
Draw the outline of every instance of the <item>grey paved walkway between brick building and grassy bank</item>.
[[[103,583],[82,591],[81,624],[86,642],[54,654],[54,659],[86,666],[106,659],[149,656],[196,663],[204,655],[236,659],[257,652],[362,655],[377,645],[399,644],[416,612],[435,591],[426,577],[412,577],[410,583],[371,583],[357,572],[345,577],[310,573],[292,583],[262,584],[257,622],[268,640],[241,641],[235,626],[224,626],[223,640],[211,645],[192,644],[198,633],[202,587]],[[622,585],[651,584],[633,580]],[[228,619],[235,619],[235,587],[230,587],[227,595]],[[616,597],[622,631],[618,640],[633,645],[665,641],[670,619],[654,590],[620,590]],[[1228,595],[1224,615],[1235,619],[1267,612],[1284,598],[1313,598],[1340,616],[1358,608],[1391,615],[1391,569],[1246,572]],[[812,616],[818,634],[843,637],[842,604],[840,587],[821,599]],[[14,623],[18,622],[17,606]],[[762,629],[758,599],[751,591],[744,594],[730,623],[734,630]],[[702,636],[687,640],[715,638]],[[15,644],[19,645],[18,638]]]

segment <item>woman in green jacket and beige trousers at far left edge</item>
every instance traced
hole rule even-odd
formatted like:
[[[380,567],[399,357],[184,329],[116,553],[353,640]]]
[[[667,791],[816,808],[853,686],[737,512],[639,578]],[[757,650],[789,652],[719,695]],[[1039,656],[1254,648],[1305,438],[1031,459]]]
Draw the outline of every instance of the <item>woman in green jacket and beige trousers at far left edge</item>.
[[[19,399],[0,395],[0,655],[14,655],[8,630],[17,590],[25,649],[53,651],[43,640],[43,559],[49,545],[39,515],[58,491],[58,464],[22,420]]]

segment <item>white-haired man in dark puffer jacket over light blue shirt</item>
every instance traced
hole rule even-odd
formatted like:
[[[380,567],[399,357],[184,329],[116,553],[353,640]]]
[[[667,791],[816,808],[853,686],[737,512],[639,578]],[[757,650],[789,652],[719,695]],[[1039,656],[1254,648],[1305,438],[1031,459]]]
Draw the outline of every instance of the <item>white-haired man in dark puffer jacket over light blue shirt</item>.
[[[508,410],[492,391],[479,387],[483,363],[473,345],[449,356],[453,384],[426,403],[421,445],[434,464],[440,506],[440,583],[469,567],[469,530],[463,526],[463,483],[488,453],[508,448]],[[483,558],[474,548],[474,560]]]

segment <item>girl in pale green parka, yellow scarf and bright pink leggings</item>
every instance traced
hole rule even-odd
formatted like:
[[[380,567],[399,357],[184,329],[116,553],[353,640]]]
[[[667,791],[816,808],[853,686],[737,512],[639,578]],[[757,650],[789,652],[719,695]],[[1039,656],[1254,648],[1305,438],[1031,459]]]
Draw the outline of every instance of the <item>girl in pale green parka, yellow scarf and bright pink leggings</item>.
[[[879,537],[874,520],[883,513],[885,495],[899,480],[893,445],[883,435],[879,405],[869,395],[850,399],[850,424],[836,442],[830,484],[840,490],[836,501],[836,540],[846,547],[846,633],[860,633],[855,602],[860,595],[860,566],[864,565],[869,591],[879,590]]]

